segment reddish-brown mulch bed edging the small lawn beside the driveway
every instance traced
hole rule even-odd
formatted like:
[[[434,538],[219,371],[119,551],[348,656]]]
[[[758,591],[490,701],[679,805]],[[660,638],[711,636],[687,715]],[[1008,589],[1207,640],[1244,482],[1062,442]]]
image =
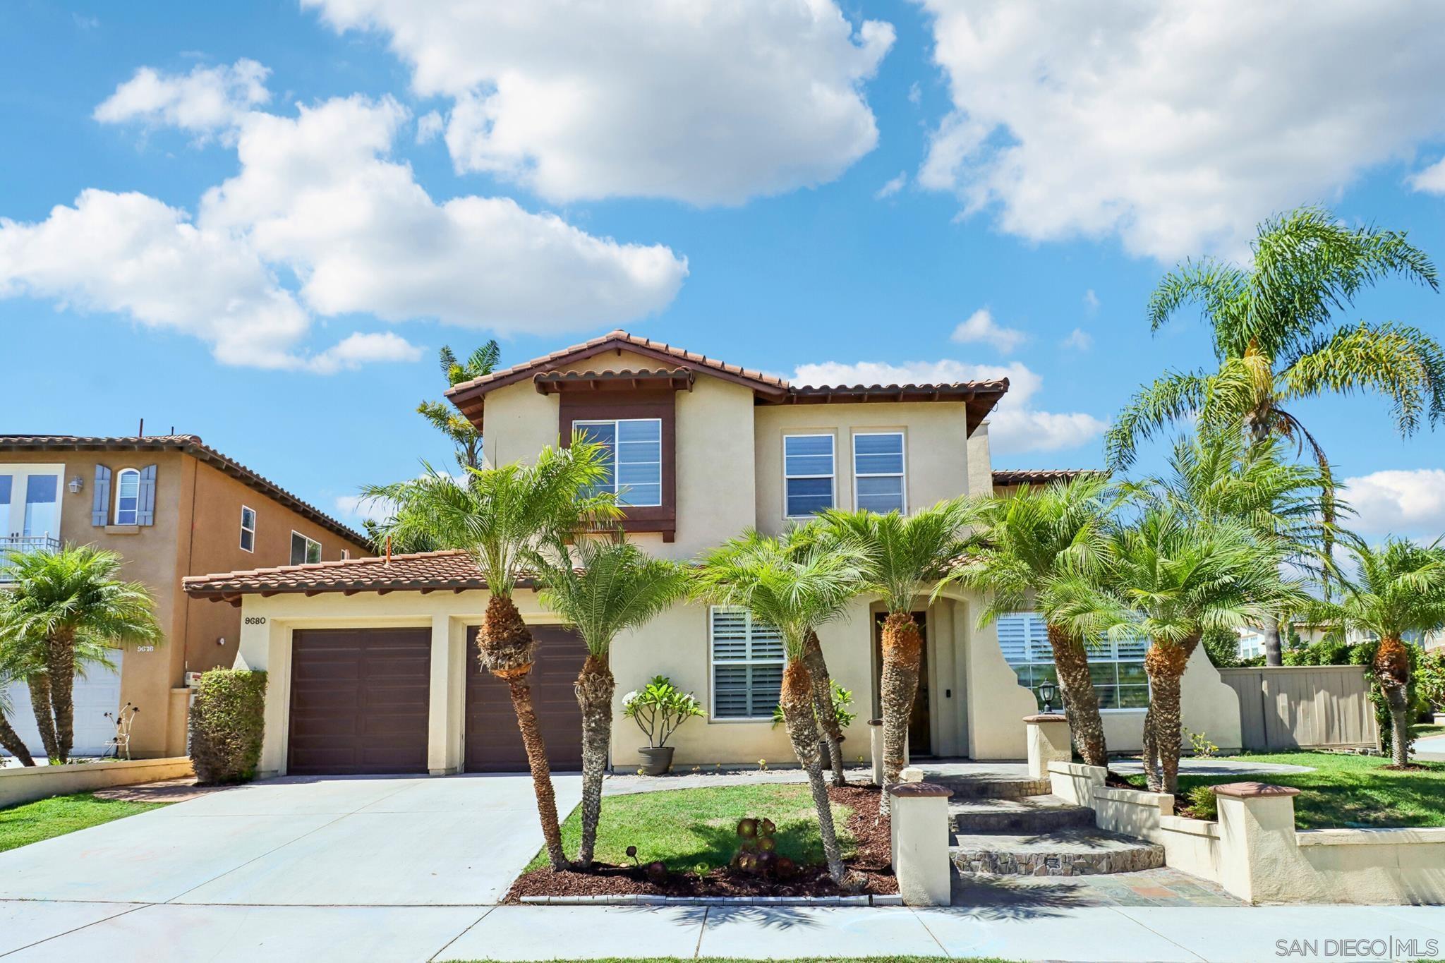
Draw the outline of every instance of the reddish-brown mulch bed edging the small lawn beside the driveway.
[[[889,820],[879,822],[879,788],[847,785],[828,788],[834,803],[853,809],[848,833],[857,840],[857,853],[848,869],[863,873],[863,894],[893,894],[897,879],[889,865]],[[724,866],[699,876],[669,872],[662,881],[647,878],[646,866],[597,863],[591,872],[533,869],[522,873],[503,902],[522,902],[522,897],[838,897],[844,894],[828,878],[827,866],[801,866],[788,879],[769,879]]]

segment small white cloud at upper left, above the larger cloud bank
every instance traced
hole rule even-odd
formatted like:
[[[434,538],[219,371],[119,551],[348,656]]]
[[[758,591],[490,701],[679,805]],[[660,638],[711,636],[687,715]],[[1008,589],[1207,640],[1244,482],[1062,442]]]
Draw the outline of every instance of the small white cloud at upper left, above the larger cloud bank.
[[[197,66],[185,75],[143,66],[95,108],[94,118],[205,134],[234,126],[246,111],[269,101],[269,75],[267,68],[249,59],[231,66]]]

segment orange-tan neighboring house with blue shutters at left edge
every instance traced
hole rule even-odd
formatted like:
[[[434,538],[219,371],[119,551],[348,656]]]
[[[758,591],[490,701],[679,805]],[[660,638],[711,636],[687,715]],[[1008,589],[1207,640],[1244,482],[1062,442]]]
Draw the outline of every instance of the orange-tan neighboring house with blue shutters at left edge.
[[[117,671],[91,667],[75,689],[77,752],[100,752],[114,733],[104,713],[130,702],[134,757],[184,755],[185,673],[236,660],[240,612],[186,598],[184,576],[368,552],[363,536],[194,435],[0,435],[0,549],[62,543],[120,553],[123,578],[155,596],[165,640],[117,651]],[[12,723],[40,752],[29,692],[20,684],[10,696]]]

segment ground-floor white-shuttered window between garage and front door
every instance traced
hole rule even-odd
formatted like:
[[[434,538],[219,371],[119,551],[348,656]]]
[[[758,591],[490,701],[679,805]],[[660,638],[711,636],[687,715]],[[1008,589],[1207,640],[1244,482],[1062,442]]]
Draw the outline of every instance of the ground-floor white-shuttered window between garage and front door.
[[[708,621],[712,718],[772,719],[783,692],[783,637],[740,608],[714,605]]]

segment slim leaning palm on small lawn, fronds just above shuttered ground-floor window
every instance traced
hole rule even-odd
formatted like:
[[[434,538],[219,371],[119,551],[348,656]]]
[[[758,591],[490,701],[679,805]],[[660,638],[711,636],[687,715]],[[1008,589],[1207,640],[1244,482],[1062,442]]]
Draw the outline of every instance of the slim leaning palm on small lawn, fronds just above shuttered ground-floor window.
[[[858,593],[863,563],[857,550],[799,550],[796,544],[749,531],[708,553],[694,575],[699,598],[744,608],[783,638],[788,667],[779,703],[788,739],[808,772],[828,875],[838,885],[845,885],[845,869],[818,757],[818,722],[803,648],[808,634],[841,615]]]

